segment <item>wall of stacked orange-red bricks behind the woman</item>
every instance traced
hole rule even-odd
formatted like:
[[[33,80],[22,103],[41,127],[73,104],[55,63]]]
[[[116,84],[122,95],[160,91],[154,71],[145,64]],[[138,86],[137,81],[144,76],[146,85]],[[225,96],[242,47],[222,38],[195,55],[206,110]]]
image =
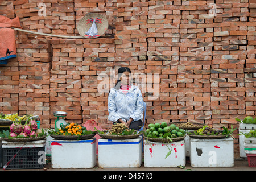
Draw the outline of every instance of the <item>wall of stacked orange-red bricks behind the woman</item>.
[[[92,118],[109,127],[108,93],[98,92],[97,77],[127,66],[159,74],[159,97],[143,93],[147,124],[172,119],[238,127],[235,117],[255,117],[255,0],[0,2],[0,15],[19,16],[24,29],[50,34],[79,35],[77,23],[88,12],[108,18],[110,36],[16,31],[18,57],[0,67],[0,111],[40,115],[42,127],[54,127],[53,111],[62,110],[69,121]]]

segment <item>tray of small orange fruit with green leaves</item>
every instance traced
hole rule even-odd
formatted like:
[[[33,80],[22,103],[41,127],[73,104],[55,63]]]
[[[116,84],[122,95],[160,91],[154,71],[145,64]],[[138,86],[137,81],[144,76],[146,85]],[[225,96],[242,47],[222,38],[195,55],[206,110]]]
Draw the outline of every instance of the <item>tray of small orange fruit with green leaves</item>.
[[[87,130],[86,127],[80,126],[75,123],[67,123],[66,125],[60,125],[60,129],[55,131],[52,129],[48,129],[49,134],[53,135],[63,135],[63,136],[71,136],[71,135],[89,135],[92,133],[96,133],[96,131]]]

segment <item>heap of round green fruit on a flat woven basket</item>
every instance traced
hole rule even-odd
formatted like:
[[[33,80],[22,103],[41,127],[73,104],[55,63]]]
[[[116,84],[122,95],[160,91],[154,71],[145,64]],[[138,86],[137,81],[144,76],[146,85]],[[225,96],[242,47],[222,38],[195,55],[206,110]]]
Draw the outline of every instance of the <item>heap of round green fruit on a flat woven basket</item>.
[[[149,124],[144,134],[148,138],[176,138],[183,137],[185,130],[179,129],[174,123],[168,126],[166,122],[162,122],[161,124]]]

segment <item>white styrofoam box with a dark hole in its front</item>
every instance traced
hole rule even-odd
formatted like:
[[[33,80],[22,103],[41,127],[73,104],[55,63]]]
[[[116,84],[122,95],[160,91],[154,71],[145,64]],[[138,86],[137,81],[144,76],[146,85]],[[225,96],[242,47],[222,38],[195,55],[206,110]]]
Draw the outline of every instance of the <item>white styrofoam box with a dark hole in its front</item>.
[[[222,139],[190,138],[192,167],[233,167],[234,143],[232,137]]]

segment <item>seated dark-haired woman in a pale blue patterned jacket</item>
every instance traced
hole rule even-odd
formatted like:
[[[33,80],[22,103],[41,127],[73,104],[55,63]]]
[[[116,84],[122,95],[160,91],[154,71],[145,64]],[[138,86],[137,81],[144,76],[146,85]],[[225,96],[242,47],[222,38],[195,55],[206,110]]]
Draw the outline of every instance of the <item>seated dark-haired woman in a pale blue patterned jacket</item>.
[[[125,123],[127,127],[139,130],[143,119],[143,98],[141,90],[131,84],[131,71],[127,67],[118,69],[118,80],[108,96],[110,121]]]

